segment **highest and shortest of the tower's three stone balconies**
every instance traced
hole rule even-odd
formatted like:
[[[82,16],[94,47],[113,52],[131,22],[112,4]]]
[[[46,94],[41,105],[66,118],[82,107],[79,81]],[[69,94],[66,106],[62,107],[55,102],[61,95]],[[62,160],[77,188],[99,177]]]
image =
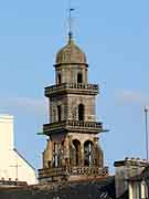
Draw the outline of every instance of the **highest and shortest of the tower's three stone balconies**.
[[[60,93],[96,95],[98,90],[98,84],[63,83],[45,87],[45,96],[49,97]]]

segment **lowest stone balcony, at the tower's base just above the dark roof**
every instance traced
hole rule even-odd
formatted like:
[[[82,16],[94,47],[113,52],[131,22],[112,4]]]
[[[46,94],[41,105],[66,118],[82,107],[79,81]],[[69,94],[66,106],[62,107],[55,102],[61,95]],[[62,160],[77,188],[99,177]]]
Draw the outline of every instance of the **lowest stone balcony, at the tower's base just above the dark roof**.
[[[53,178],[58,176],[84,176],[84,177],[105,177],[108,176],[108,167],[68,167],[68,168],[45,168],[39,170],[39,178]]]

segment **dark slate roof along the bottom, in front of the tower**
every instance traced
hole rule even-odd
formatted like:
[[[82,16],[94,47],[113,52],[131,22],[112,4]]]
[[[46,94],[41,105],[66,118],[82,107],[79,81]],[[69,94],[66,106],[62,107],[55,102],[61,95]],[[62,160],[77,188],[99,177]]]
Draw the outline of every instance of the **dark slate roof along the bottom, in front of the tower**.
[[[1,199],[115,199],[115,179],[0,188]]]

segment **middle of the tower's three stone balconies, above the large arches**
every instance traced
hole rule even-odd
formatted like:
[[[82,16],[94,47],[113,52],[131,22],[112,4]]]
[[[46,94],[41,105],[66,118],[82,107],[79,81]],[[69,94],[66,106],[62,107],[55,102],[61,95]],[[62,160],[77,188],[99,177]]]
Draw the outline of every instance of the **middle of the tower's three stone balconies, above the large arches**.
[[[96,122],[84,121],[62,121],[58,123],[50,123],[43,125],[45,135],[58,133],[62,130],[82,132],[82,133],[99,133],[103,132],[103,124]]]

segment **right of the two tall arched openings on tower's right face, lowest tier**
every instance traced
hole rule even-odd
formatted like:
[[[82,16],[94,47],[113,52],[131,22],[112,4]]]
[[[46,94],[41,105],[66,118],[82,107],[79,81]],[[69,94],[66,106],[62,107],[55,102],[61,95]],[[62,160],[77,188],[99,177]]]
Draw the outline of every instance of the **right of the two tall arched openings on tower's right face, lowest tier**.
[[[84,166],[91,167],[94,164],[94,145],[91,140],[84,143]]]

